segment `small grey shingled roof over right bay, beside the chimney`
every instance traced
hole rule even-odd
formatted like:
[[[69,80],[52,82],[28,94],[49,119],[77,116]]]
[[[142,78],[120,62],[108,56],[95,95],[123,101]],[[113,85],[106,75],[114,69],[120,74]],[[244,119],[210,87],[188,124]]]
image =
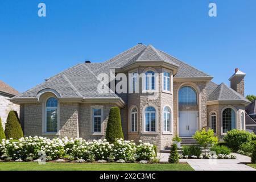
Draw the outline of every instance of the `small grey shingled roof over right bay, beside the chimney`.
[[[210,89],[213,89],[216,85],[211,85],[212,87]],[[212,93],[208,96],[208,101],[246,101],[245,97],[243,97],[241,94],[237,93],[235,90],[230,88],[224,83],[221,83],[217,86],[215,90],[213,90]]]

